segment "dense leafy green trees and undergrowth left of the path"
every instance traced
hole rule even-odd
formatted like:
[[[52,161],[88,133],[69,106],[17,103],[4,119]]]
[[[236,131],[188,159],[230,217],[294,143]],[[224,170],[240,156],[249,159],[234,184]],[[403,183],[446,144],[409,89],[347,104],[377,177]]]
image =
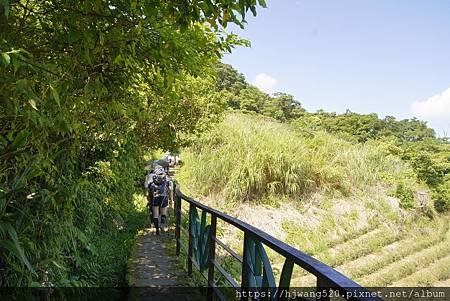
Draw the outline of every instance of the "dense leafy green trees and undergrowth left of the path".
[[[1,286],[120,284],[143,154],[223,111],[223,28],[256,6],[0,1]]]

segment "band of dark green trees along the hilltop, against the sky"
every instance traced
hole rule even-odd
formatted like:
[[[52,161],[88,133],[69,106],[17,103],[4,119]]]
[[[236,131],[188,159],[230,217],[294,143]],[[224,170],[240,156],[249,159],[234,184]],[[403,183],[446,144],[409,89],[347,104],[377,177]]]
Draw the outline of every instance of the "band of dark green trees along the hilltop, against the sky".
[[[392,116],[380,119],[376,114],[351,111],[307,112],[292,95],[270,96],[248,84],[229,65],[219,64],[216,69],[216,88],[224,93],[229,108],[289,123],[305,137],[325,131],[353,144],[376,144],[413,168],[417,179],[432,191],[436,210],[450,209],[450,142],[448,138],[437,138],[425,122],[415,118],[398,121]],[[397,197],[412,204],[411,190],[402,179],[397,180]]]

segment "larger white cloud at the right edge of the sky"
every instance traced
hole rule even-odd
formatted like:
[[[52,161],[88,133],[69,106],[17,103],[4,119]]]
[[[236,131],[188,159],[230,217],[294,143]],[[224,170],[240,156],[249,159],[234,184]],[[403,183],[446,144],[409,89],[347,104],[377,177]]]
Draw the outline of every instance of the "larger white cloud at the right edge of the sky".
[[[414,117],[423,119],[450,118],[450,88],[427,100],[413,102],[410,113]]]

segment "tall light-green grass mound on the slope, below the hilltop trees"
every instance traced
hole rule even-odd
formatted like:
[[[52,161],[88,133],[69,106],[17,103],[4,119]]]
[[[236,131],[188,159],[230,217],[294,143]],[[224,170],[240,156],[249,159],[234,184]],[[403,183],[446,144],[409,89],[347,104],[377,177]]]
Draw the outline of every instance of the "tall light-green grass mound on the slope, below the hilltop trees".
[[[184,153],[178,175],[203,195],[234,200],[316,191],[348,195],[390,177],[415,181],[408,166],[373,144],[351,144],[318,132],[306,137],[287,124],[229,114]]]

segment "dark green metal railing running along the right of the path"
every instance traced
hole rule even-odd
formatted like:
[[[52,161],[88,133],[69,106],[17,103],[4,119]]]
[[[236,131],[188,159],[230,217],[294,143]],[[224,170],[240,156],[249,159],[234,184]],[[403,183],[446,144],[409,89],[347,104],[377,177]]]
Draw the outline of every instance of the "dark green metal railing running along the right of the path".
[[[226,279],[241,300],[251,299],[249,296],[256,296],[256,293],[259,296],[264,295],[265,298],[261,298],[264,300],[287,300],[288,295],[283,292],[289,290],[294,265],[298,265],[317,277],[316,292],[321,292],[316,295],[317,300],[329,300],[330,296],[338,294],[344,299],[351,300],[381,300],[374,293],[317,259],[239,219],[184,195],[176,181],[173,182],[173,199],[175,201],[176,254],[180,255],[181,249],[185,251],[188,275],[192,275],[192,267],[195,266],[205,277],[208,282],[208,300],[215,297],[226,300],[226,296],[214,281],[216,272]],[[183,202],[189,205],[188,214],[182,210]],[[201,211],[200,216],[199,210]],[[182,225],[182,216],[187,220],[188,229]],[[217,238],[218,220],[243,231],[243,256],[237,254]],[[181,239],[182,231],[188,237],[187,246]],[[242,271],[240,284],[216,260],[217,245],[240,263]],[[285,258],[278,285],[265,248],[270,248]]]

